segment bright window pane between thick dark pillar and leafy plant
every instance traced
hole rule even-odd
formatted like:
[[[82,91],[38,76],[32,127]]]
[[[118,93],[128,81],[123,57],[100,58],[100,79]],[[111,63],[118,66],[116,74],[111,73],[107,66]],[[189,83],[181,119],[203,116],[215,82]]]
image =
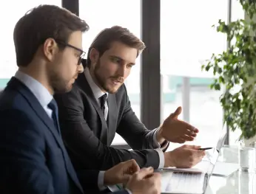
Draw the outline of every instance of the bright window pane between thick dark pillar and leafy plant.
[[[210,146],[222,129],[223,91],[209,89],[212,75],[202,72],[201,65],[212,53],[226,49],[226,37],[212,25],[226,21],[227,13],[227,0],[161,1],[161,117],[164,120],[181,105],[180,119],[200,131],[192,144]]]

